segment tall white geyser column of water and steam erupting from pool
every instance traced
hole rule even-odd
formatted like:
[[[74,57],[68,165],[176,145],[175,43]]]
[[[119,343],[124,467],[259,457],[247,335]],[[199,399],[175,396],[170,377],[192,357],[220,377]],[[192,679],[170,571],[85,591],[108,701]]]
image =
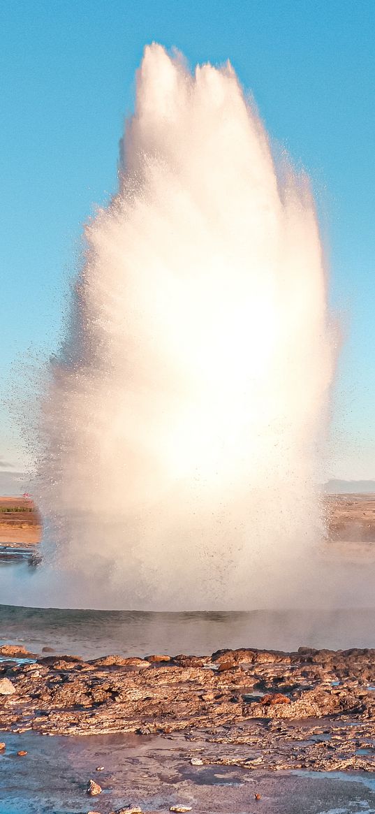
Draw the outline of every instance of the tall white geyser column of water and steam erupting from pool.
[[[333,368],[307,177],[276,166],[229,63],[192,76],[147,47],[41,399],[67,604],[301,605]]]

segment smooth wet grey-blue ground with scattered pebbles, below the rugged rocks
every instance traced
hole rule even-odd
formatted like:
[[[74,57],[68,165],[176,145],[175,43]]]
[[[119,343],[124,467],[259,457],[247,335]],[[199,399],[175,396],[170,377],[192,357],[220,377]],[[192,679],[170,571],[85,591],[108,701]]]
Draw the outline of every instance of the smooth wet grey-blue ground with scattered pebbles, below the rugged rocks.
[[[0,814],[109,814],[127,805],[168,812],[176,804],[197,814],[375,812],[375,779],[368,773],[264,774],[233,766],[192,766],[190,760],[199,754],[197,742],[137,735],[7,733],[2,739],[7,750],[0,755]],[[18,757],[20,750],[28,755]],[[94,798],[86,794],[90,778],[102,786],[102,794]]]

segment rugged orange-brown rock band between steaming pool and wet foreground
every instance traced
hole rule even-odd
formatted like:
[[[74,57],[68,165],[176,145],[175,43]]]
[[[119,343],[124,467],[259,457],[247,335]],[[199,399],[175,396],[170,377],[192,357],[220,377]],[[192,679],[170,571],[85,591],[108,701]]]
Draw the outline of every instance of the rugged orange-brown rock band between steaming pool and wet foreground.
[[[73,656],[9,661],[0,664],[0,682],[12,689],[0,695],[0,729],[70,735],[185,731],[192,737],[205,730],[222,737],[254,720],[375,720],[375,693],[368,689],[373,681],[375,651],[358,649],[281,654],[242,648],[212,657],[181,654],[152,666],[120,655],[90,663]]]

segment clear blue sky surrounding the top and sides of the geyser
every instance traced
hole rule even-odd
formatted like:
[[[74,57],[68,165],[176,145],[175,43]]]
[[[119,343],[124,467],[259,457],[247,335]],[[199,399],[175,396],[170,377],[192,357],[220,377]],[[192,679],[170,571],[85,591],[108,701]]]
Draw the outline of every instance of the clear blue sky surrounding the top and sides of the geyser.
[[[116,190],[147,43],[230,59],[273,142],[312,177],[342,324],[329,475],[375,478],[375,2],[2,0],[0,470],[27,457],[9,408],[63,334],[82,227]]]

